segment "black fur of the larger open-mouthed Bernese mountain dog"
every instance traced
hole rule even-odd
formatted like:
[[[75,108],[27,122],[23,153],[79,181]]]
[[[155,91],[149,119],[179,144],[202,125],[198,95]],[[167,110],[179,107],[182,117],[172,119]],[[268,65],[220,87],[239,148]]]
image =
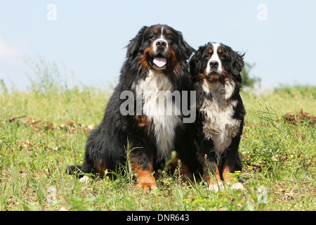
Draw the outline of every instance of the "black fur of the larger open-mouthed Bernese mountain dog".
[[[149,70],[153,70],[150,61],[152,56],[150,54],[145,55],[145,51],[152,46],[154,40],[159,38],[162,27],[164,27],[165,37],[170,38],[168,44],[176,56],[176,59],[173,58],[173,60],[167,58],[166,68],[163,70],[164,75],[169,78],[173,90],[189,91],[192,89],[187,59],[190,58],[194,50],[183,40],[182,34],[167,25],[142,27],[127,46],[126,61],[121,68],[119,84],[115,87],[114,93],[107,103],[103,121],[88,137],[84,164],[77,166],[82,172],[98,173],[102,176],[105,169],[115,171],[118,165],[125,165],[127,141],[129,141],[131,148],[139,147],[134,148],[133,155],[143,169],[150,167],[152,158],[154,164],[157,165],[154,128],[147,126],[147,124],[145,125],[146,129],[140,127],[136,115],[121,115],[120,106],[125,99],[120,99],[120,95],[123,91],[129,90],[133,91],[135,96],[135,89],[132,88],[133,84],[140,79],[145,79]],[[166,30],[169,33],[166,33]],[[188,150],[185,143],[183,143],[186,125],[175,127],[175,129],[177,134],[174,139],[175,148],[180,158],[186,162],[187,158],[192,158],[192,155],[185,153]],[[182,156],[183,153],[188,156]],[[68,172],[72,173],[74,169],[74,166],[69,167]]]

